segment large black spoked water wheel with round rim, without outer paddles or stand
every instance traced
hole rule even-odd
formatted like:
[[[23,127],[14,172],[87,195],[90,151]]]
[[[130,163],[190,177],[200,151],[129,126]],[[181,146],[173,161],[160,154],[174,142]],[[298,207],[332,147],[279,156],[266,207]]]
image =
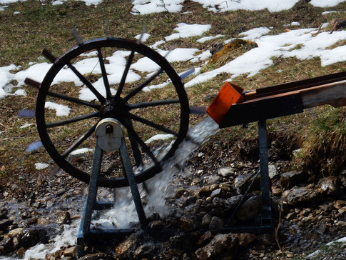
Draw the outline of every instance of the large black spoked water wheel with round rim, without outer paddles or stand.
[[[146,79],[136,71],[141,61],[157,67]],[[165,81],[171,84],[164,89],[143,91]],[[51,110],[56,104],[64,106],[65,115]],[[148,46],[118,38],[88,41],[56,59],[36,102],[37,128],[46,151],[61,169],[87,183],[94,131],[101,119],[111,117],[122,124],[136,181],[141,183],[158,174],[185,139],[188,116],[185,89],[168,61]],[[158,134],[171,137],[146,143]],[[122,169],[118,151],[104,153],[98,186],[128,186]]]

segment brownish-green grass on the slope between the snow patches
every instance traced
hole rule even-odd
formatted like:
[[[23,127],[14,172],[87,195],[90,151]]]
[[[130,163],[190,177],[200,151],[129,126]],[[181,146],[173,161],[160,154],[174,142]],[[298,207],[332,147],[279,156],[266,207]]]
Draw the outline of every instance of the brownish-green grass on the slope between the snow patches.
[[[211,24],[212,27],[208,35],[223,34],[225,38],[207,41],[203,44],[197,43],[192,39],[178,39],[168,41],[160,46],[161,49],[170,49],[171,46],[181,48],[196,48],[200,51],[210,49],[215,44],[224,39],[237,37],[241,32],[253,29],[259,26],[272,26],[269,34],[279,34],[285,29],[290,29],[284,24],[290,24],[292,21],[298,21],[300,26],[292,29],[320,27],[320,24],[330,21],[331,19],[340,18],[344,14],[346,3],[341,3],[332,8],[316,8],[310,4],[303,4],[300,1],[295,8],[288,11],[280,11],[270,13],[269,11],[228,11],[214,14],[207,9],[194,2],[183,1],[183,12],[177,14],[161,13],[148,14],[143,16],[135,16],[131,14],[131,1],[103,1],[98,6],[86,6],[81,1],[66,1],[61,5],[52,5],[50,1],[28,0],[24,2],[16,2],[8,4],[5,11],[0,12],[1,21],[1,55],[0,66],[8,66],[15,64],[21,66],[21,69],[29,67],[30,62],[42,62],[41,51],[49,49],[55,56],[60,56],[76,43],[71,36],[71,28],[77,27],[78,32],[84,41],[104,36],[118,36],[126,39],[133,39],[134,36],[140,34],[143,26],[146,31],[151,34],[146,44],[151,45],[156,41],[164,39],[173,33],[173,29],[178,23],[185,22],[187,24]],[[327,14],[322,16],[322,11],[340,11],[339,13]],[[19,14],[14,14],[19,11]],[[195,15],[198,14],[198,15]],[[342,46],[345,42],[335,45]],[[293,49],[301,46],[292,46]],[[225,61],[222,61],[225,62]],[[330,66],[320,66],[320,59],[310,59],[300,61],[294,58],[273,58],[273,65],[267,69],[260,71],[255,76],[247,75],[238,76],[234,79],[234,83],[244,89],[258,89],[264,86],[280,84],[287,81],[307,79],[313,76],[320,76],[342,71],[346,63],[332,64]],[[173,67],[178,71],[185,71],[190,66],[201,66],[204,71],[215,69],[220,64],[204,65],[204,61],[199,64],[192,64],[188,61],[175,62]],[[223,81],[230,78],[230,74],[219,74],[210,81],[196,84],[187,89],[190,105],[208,106],[210,100],[205,99],[210,94],[217,94]],[[12,82],[16,84],[16,82]],[[30,86],[24,87],[27,96],[6,96],[0,100],[0,185],[6,184],[13,174],[30,174],[31,176],[39,176],[41,171],[34,169],[34,163],[37,161],[49,161],[49,156],[44,149],[39,149],[32,153],[26,153],[26,147],[32,142],[39,139],[34,126],[22,129],[20,126],[26,123],[35,123],[34,119],[21,119],[17,116],[18,112],[24,107],[27,109],[35,109],[36,89]],[[68,89],[66,89],[68,91]],[[167,90],[166,90],[167,91]],[[168,96],[169,92],[163,90],[154,91],[155,95]],[[153,94],[153,93],[152,93]],[[147,97],[150,99],[150,96]],[[24,103],[25,101],[25,103]],[[323,110],[323,109],[322,109]],[[328,108],[327,108],[328,110]],[[297,139],[303,139],[300,133],[301,129],[310,129],[315,131],[315,123],[312,121],[320,113],[320,109],[312,109],[308,113],[301,115],[288,116],[285,118],[270,121],[268,127],[271,131],[278,133],[297,136]],[[329,110],[332,114],[338,115],[341,120],[340,113],[344,110]],[[162,113],[161,113],[162,114]],[[157,115],[158,120],[166,120],[160,113]],[[200,116],[191,116],[190,121],[195,123],[200,120]],[[331,119],[330,119],[331,120]],[[312,122],[311,122],[312,121]],[[330,121],[334,124],[335,121]],[[341,121],[335,123],[335,127],[342,129]],[[332,126],[334,127],[334,125]],[[344,129],[345,130],[345,129]],[[336,130],[333,128],[333,133]],[[324,136],[329,136],[330,131],[326,131]],[[220,131],[217,138],[225,139],[225,141],[239,140],[256,134],[255,127],[245,131],[241,127],[234,127],[232,131]],[[61,134],[61,133],[60,133]],[[305,133],[308,134],[308,133]],[[345,138],[345,132],[340,132],[341,142],[332,141],[330,147],[342,146]],[[318,134],[317,134],[318,135]],[[318,136],[317,136],[318,137]],[[312,137],[311,137],[312,138]],[[334,137],[335,140],[337,137]],[[321,139],[316,138],[315,144],[318,147]],[[306,148],[306,151],[310,151]],[[319,152],[316,151],[316,154]],[[337,169],[337,168],[336,168]],[[47,170],[45,170],[47,171]],[[330,171],[330,169],[328,169]]]

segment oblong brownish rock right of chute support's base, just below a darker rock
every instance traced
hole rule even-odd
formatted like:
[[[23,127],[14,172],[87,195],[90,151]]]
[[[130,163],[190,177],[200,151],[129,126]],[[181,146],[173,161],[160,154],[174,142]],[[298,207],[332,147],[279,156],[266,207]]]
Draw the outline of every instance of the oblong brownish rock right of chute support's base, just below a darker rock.
[[[317,201],[320,198],[320,193],[313,186],[294,187],[283,192],[283,197],[289,205],[300,205],[307,202]]]

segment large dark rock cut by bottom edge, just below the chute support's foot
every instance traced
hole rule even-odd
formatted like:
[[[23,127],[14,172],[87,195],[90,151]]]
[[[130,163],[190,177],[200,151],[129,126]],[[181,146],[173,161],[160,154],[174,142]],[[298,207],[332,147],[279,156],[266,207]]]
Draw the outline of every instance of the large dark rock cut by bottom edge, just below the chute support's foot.
[[[232,234],[218,234],[209,244],[195,251],[195,259],[235,259],[238,247],[237,237]]]

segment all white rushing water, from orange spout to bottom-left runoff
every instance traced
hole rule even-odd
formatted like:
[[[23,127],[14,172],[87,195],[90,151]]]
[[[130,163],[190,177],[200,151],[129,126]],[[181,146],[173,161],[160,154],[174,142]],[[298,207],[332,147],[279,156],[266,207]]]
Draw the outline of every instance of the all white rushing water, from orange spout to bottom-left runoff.
[[[146,181],[148,191],[143,189],[143,185],[138,185],[138,189],[141,192],[144,209],[146,215],[149,216],[153,212],[160,214],[161,217],[165,217],[169,214],[168,207],[166,206],[165,198],[173,193],[174,186],[170,185],[173,176],[180,174],[183,170],[185,163],[188,161],[190,154],[193,153],[198,147],[205,141],[208,141],[218,131],[218,124],[210,117],[195,124],[193,128],[189,129],[188,135],[177,151],[175,156],[163,165],[163,171],[161,174],[157,174],[152,179]],[[185,173],[184,174],[189,174]],[[98,229],[126,229],[131,224],[138,223],[138,216],[136,209],[131,198],[131,192],[128,187],[115,189],[113,194],[110,189],[99,189],[98,199],[107,199],[110,197],[115,198],[115,204],[113,209],[106,211],[102,215],[99,212],[93,214],[93,221],[91,221],[91,229],[97,227]],[[112,198],[113,199],[113,198]],[[71,226],[64,226],[63,234],[54,239],[54,244],[43,245],[39,244],[32,249],[26,251],[25,259],[31,257],[40,257],[48,253],[54,252],[60,249],[63,245],[74,244],[76,240],[76,234],[79,223],[75,222]]]

